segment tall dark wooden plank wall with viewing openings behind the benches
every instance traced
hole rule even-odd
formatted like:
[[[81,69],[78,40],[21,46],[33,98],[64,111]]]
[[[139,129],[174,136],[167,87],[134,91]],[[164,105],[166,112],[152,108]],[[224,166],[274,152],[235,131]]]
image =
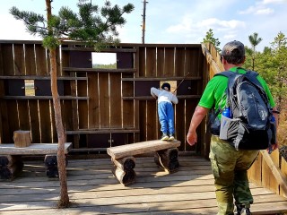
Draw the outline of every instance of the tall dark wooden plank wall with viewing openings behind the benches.
[[[176,137],[181,151],[204,151],[205,126],[196,147],[186,134],[204,89],[208,67],[199,44],[119,44],[102,50],[115,53],[117,68],[91,68],[94,50],[64,43],[57,50],[58,91],[66,141],[74,150],[106,150],[109,146],[159,139],[157,103],[150,89],[175,82]],[[35,95],[25,94],[27,80]],[[13,131],[29,130],[32,142],[57,142],[50,93],[48,50],[40,41],[0,41],[0,142],[13,142]]]

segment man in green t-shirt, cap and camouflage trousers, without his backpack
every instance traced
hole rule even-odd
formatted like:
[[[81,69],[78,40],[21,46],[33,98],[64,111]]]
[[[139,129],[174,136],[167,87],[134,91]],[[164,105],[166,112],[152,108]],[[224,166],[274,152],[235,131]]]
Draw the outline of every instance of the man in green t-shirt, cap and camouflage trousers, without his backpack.
[[[245,48],[239,41],[231,41],[222,48],[221,61],[225,70],[246,73],[241,68],[245,62]],[[274,110],[274,117],[278,122],[274,99],[264,79],[257,76],[258,81],[264,88],[270,105]],[[227,89],[228,78],[217,75],[207,83],[202,98],[200,99],[195,113],[192,116],[187,142],[192,146],[197,142],[196,128],[209,109],[224,108],[226,99],[223,95]],[[218,116],[221,117],[221,114]],[[276,145],[274,145],[274,148]],[[249,208],[253,203],[253,197],[248,185],[248,168],[257,159],[258,150],[236,150],[229,142],[222,141],[218,135],[213,134],[210,144],[209,158],[212,163],[216,201],[218,204],[218,215],[234,214],[233,197],[235,199],[235,214],[251,214]]]

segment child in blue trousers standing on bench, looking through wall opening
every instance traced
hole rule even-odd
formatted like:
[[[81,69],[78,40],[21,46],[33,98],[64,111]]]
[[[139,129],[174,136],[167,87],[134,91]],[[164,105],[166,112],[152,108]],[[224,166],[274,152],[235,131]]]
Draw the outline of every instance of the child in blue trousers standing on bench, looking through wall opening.
[[[178,104],[178,98],[170,92],[170,83],[168,82],[161,85],[161,90],[152,87],[151,94],[154,99],[158,98],[158,114],[162,132],[161,141],[173,141],[175,129],[172,103]]]

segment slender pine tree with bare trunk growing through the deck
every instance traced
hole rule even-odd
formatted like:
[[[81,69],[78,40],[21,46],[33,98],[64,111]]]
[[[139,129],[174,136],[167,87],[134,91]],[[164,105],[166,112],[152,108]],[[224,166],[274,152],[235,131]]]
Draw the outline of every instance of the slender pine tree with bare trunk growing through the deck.
[[[45,0],[47,18],[44,15],[20,11],[12,7],[10,13],[17,20],[22,20],[30,34],[39,34],[43,38],[43,46],[48,48],[51,64],[51,91],[55,110],[55,122],[58,137],[57,162],[60,180],[59,208],[68,207],[70,204],[67,193],[66,169],[65,169],[65,132],[62,122],[60,99],[57,92],[57,61],[56,50],[64,40],[77,40],[84,42],[87,46],[95,47],[96,50],[110,45],[117,44],[117,26],[126,23],[124,13],[131,13],[134,10],[133,4],[126,4],[120,8],[117,4],[111,6],[106,1],[101,8],[91,4],[89,0],[79,0],[77,4],[79,13],[74,13],[67,6],[61,7],[58,15],[52,14],[53,0]]]

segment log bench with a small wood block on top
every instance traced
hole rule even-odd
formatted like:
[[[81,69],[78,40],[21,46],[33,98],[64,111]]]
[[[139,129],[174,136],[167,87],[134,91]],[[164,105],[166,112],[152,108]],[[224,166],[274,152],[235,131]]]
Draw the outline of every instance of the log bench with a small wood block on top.
[[[72,147],[72,142],[65,143],[65,154]],[[22,155],[45,155],[46,175],[57,177],[57,143],[32,143],[27,147],[15,147],[13,143],[0,144],[0,178],[13,180],[22,172]],[[67,160],[65,161],[67,164]]]

